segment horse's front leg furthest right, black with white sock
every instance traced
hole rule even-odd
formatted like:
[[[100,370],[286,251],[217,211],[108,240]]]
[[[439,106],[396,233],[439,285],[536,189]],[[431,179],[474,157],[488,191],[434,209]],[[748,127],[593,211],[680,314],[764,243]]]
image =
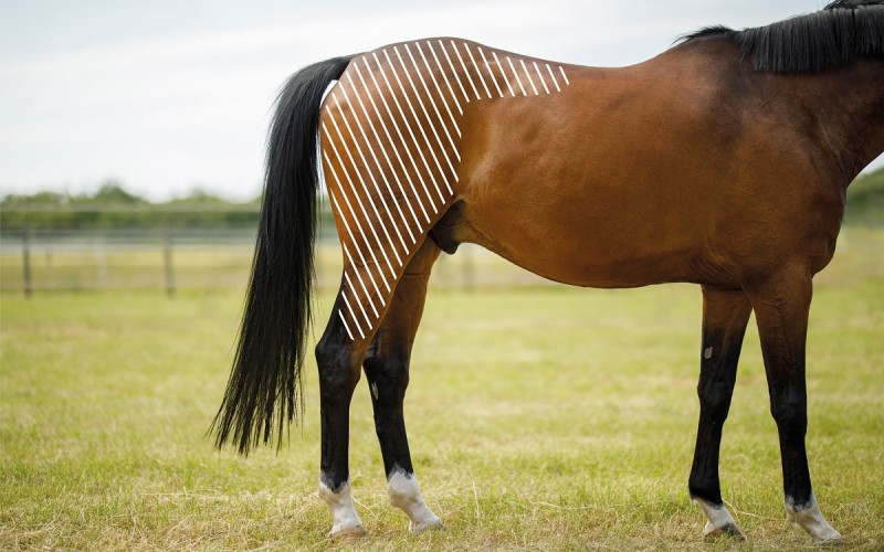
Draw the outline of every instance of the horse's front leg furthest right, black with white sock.
[[[818,543],[841,534],[822,517],[810,485],[804,435],[808,426],[804,347],[812,296],[809,270],[793,269],[748,290],[765,358],[770,413],[777,423],[782,457],[786,513]]]

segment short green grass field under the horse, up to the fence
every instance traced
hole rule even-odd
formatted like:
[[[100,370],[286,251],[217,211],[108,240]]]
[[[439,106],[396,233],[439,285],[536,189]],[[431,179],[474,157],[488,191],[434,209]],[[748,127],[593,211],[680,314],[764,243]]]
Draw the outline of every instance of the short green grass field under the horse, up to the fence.
[[[884,546],[884,233],[850,231],[840,245],[811,314],[811,473],[848,545],[875,550]],[[203,435],[242,293],[0,296],[0,549],[703,546],[686,489],[696,287],[431,293],[406,407],[423,495],[446,529],[409,535],[387,505],[362,383],[350,467],[369,537],[345,543],[325,539],[330,517],[315,492],[315,365],[303,428],[278,455],[215,453]],[[324,291],[320,320],[329,304]],[[723,493],[747,546],[809,546],[785,519],[754,327],[722,458]]]

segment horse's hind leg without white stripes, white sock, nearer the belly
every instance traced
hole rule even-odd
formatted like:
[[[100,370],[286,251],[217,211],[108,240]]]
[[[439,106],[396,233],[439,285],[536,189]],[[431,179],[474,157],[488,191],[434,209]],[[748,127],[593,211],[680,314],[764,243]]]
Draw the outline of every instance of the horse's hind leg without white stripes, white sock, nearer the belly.
[[[409,381],[409,361],[414,335],[423,314],[427,282],[440,250],[427,240],[409,263],[397,285],[390,308],[365,360],[365,372],[375,408],[390,503],[404,511],[412,531],[440,527],[440,519],[423,501],[406,435],[402,402]]]

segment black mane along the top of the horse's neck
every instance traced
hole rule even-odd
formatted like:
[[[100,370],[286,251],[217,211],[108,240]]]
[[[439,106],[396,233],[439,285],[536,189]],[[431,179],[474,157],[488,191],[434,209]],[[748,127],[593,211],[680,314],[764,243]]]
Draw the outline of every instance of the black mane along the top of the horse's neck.
[[[728,39],[756,71],[818,73],[861,55],[884,57],[884,1],[835,0],[822,10],[766,26],[735,31],[706,26],[682,36]]]

